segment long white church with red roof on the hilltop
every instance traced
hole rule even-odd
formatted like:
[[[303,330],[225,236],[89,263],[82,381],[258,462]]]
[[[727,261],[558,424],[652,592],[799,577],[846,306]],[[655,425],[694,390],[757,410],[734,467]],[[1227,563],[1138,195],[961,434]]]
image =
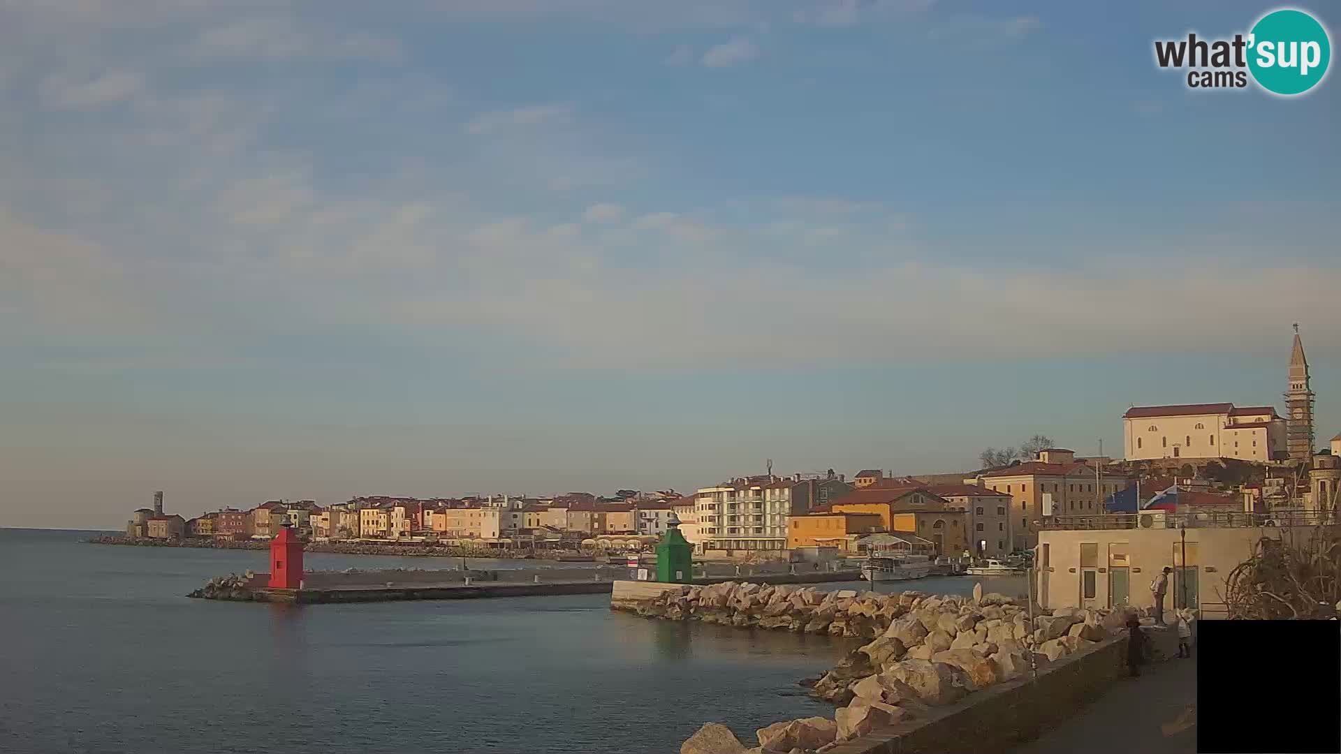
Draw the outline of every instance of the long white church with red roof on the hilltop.
[[[1234,404],[1132,407],[1122,415],[1126,460],[1287,457],[1286,421],[1271,407]]]

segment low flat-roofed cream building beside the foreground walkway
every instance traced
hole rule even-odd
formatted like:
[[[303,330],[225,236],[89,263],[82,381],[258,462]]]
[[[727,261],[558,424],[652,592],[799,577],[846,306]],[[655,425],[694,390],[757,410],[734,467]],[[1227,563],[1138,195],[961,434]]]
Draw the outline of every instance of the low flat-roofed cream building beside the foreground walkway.
[[[1165,610],[1189,606],[1227,617],[1226,577],[1262,538],[1306,543],[1337,526],[1320,513],[1164,511],[1057,515],[1035,522],[1034,593],[1043,609],[1155,605],[1151,582],[1165,568]]]

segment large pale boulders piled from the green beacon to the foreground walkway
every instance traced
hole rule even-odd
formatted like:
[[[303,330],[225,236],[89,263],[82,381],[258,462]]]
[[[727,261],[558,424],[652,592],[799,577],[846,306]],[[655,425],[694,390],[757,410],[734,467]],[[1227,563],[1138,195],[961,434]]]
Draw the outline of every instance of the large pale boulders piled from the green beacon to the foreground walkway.
[[[837,706],[834,718],[783,720],[759,729],[746,749],[724,726],[708,723],[681,754],[827,751],[839,743],[927,716],[990,686],[1096,648],[1125,614],[1059,609],[1033,621],[1023,600],[1004,594],[932,596],[819,592],[814,588],[717,584],[672,588],[641,601],[641,616],[699,620],[870,640],[813,682],[811,694]]]

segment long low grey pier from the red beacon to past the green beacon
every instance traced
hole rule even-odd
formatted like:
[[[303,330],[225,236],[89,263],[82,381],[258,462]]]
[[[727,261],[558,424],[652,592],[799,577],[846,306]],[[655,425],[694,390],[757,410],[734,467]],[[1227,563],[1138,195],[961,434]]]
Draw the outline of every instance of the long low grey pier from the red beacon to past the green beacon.
[[[271,589],[268,573],[213,578],[188,594],[235,602],[286,602],[299,605],[350,602],[401,602],[408,600],[479,600],[488,597],[536,597],[552,594],[610,594],[617,581],[628,582],[626,568],[516,569],[516,570],[380,570],[314,572],[300,589]],[[693,584],[748,581],[756,584],[825,584],[857,581],[857,570],[815,573],[755,573],[713,576]],[[656,582],[636,582],[656,584]]]

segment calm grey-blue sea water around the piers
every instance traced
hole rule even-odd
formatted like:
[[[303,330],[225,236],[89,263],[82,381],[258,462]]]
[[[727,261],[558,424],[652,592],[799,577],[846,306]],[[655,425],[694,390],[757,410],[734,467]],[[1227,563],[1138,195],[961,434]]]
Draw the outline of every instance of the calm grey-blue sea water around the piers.
[[[267,553],[82,541],[94,534],[0,529],[3,753],[673,754],[705,722],[752,746],[772,722],[831,716],[798,680],[860,645],[638,618],[611,612],[606,594],[190,600],[211,577],[266,570]],[[306,561],[316,570],[460,562]],[[972,584],[908,588],[967,594]]]

